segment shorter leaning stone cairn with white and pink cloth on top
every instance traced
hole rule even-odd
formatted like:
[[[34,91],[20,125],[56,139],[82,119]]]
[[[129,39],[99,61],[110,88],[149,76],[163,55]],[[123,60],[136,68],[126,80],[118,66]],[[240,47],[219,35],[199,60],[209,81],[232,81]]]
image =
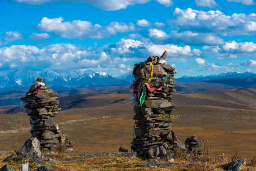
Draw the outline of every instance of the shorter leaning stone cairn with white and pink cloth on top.
[[[26,103],[24,107],[30,116],[30,132],[40,141],[41,149],[72,147],[59,125],[52,120],[60,110],[60,100],[57,93],[45,85],[43,78],[37,78],[21,100]]]

